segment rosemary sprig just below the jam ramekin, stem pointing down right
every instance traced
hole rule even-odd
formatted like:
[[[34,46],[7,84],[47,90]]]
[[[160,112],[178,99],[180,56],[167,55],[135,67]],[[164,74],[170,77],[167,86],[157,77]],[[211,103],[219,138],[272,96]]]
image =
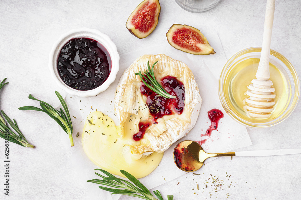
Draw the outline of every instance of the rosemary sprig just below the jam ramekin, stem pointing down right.
[[[74,146],[73,138],[72,138],[73,127],[72,127],[72,121],[71,121],[69,109],[68,109],[67,104],[64,101],[63,97],[61,96],[61,94],[58,93],[57,91],[55,91],[55,94],[57,95],[58,99],[60,100],[65,112],[61,108],[60,108],[60,110],[56,110],[54,107],[52,107],[48,103],[34,98],[31,94],[29,94],[28,98],[39,101],[42,109],[37,108],[35,106],[23,106],[23,107],[20,107],[19,110],[36,110],[36,111],[45,112],[52,119],[54,119],[60,125],[60,127],[62,127],[62,129],[68,134],[71,147],[73,147]]]

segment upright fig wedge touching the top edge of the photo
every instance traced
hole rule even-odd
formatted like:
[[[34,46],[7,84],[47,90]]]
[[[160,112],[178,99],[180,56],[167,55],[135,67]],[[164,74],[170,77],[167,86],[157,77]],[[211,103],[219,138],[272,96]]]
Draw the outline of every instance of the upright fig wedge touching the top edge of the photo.
[[[158,24],[161,6],[159,0],[144,0],[129,16],[126,28],[136,37],[147,37]]]

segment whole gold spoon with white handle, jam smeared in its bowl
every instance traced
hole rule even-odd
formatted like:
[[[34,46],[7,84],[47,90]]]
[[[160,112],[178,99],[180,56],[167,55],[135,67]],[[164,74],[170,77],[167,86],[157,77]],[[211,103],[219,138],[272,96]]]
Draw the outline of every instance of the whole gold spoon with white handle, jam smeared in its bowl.
[[[301,154],[301,149],[275,149],[240,151],[229,153],[209,154],[206,153],[201,145],[191,140],[185,140],[175,147],[173,151],[176,166],[185,172],[194,172],[200,169],[204,161],[210,157],[221,156],[274,156],[287,154]]]

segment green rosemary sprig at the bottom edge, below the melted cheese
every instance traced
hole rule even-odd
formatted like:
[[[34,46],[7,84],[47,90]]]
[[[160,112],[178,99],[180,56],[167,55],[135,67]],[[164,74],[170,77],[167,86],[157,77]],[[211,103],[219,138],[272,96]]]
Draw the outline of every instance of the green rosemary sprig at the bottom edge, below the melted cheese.
[[[93,179],[93,180],[89,180],[87,182],[109,186],[109,187],[98,186],[102,190],[112,192],[112,194],[133,196],[133,197],[138,197],[140,199],[164,200],[158,190],[153,191],[154,194],[156,195],[156,197],[158,198],[158,199],[156,199],[151,194],[151,192],[149,190],[147,190],[147,188],[143,184],[141,184],[140,181],[138,181],[137,178],[135,178],[133,175],[131,175],[130,173],[128,173],[124,170],[120,170],[120,172],[123,175],[125,175],[125,177],[128,178],[129,181],[131,181],[132,183],[129,181],[123,180],[121,178],[117,178],[114,175],[110,174],[109,172],[107,172],[103,169],[95,169],[95,170],[101,171],[102,173],[107,175],[107,177],[95,172],[95,174],[100,176],[102,179]],[[115,189],[115,188],[118,188],[118,189]],[[135,194],[135,193],[141,194],[142,196]],[[173,195],[167,195],[167,199],[173,200]]]

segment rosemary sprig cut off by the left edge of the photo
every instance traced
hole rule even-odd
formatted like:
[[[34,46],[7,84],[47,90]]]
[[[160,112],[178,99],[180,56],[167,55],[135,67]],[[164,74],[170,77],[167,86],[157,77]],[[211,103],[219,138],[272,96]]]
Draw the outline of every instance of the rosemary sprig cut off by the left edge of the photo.
[[[6,78],[3,79],[3,81],[0,83],[0,90],[4,85],[8,84],[8,82],[4,83],[5,80],[6,80]],[[33,146],[33,145],[29,144],[29,142],[27,142],[27,140],[21,133],[21,131],[17,125],[17,122],[14,119],[13,119],[14,122],[11,121],[11,119],[5,114],[5,112],[3,110],[1,110],[1,113],[2,113],[3,117],[5,118],[5,120],[7,121],[7,123],[11,126],[12,129],[15,130],[16,133],[14,133],[14,131],[11,130],[11,128],[6,125],[4,119],[0,115],[0,137],[8,140],[9,142],[14,142],[18,145],[21,145],[23,147],[35,148],[35,146]],[[17,133],[18,133],[18,135],[17,135]]]

